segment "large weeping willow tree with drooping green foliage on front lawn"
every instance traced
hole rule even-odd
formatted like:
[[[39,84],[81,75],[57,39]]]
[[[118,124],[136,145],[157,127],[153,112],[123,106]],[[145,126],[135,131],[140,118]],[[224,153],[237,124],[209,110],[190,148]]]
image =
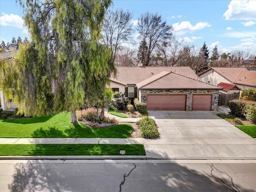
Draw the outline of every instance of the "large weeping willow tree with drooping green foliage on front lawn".
[[[20,113],[40,116],[96,101],[115,71],[111,52],[98,44],[111,0],[18,0],[31,40],[14,62],[1,62],[0,87],[14,88]]]

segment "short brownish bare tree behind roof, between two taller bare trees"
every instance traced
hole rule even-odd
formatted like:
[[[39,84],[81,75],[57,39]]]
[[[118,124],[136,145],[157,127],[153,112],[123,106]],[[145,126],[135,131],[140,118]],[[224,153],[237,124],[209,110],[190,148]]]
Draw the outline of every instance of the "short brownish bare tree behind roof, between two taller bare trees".
[[[136,64],[136,54],[135,51],[126,47],[119,46],[116,51],[115,64],[117,66],[134,66]]]

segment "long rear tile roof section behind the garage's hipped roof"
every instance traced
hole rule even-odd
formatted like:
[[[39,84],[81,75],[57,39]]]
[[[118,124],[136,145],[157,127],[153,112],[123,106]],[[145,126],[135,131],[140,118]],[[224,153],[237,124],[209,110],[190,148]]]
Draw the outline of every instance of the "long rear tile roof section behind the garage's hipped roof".
[[[174,67],[117,67],[117,74],[114,78],[124,84],[136,84],[146,80],[160,72],[168,71],[175,72],[191,78],[198,78],[194,71],[189,66],[174,66]]]

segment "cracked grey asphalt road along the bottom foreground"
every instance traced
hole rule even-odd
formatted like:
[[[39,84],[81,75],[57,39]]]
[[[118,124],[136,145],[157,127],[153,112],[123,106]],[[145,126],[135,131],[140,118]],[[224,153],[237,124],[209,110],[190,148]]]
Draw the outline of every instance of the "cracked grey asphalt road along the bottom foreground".
[[[0,191],[256,191],[256,164],[253,163],[159,162],[0,160]]]

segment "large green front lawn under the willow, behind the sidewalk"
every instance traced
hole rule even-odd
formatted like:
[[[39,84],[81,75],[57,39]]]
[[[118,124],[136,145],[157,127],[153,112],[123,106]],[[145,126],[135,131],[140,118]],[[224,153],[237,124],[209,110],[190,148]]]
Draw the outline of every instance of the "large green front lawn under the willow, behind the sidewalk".
[[[70,113],[55,116],[0,120],[0,138],[127,138],[130,124],[91,128],[70,124]]]

